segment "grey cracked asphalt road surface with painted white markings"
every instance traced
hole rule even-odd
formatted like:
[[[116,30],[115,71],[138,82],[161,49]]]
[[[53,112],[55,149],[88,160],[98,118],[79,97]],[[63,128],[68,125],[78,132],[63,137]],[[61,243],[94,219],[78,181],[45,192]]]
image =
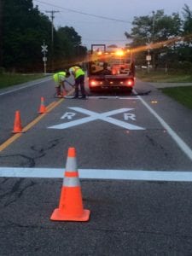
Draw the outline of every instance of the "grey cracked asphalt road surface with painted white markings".
[[[88,100],[55,99],[51,80],[29,85],[0,94],[0,255],[191,255],[191,110],[140,81],[138,96]],[[41,96],[55,107],[33,124]],[[33,125],[8,143],[18,109]],[[49,220],[69,147],[86,223]]]

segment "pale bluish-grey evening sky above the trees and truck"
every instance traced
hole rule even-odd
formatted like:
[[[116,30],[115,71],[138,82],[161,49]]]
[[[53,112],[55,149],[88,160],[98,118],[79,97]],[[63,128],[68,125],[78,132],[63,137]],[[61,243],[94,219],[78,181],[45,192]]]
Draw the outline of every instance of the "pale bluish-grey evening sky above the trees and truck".
[[[131,32],[134,16],[152,15],[158,9],[164,9],[166,15],[182,15],[185,3],[192,9],[192,0],[33,0],[43,13],[59,11],[55,13],[55,27],[73,26],[89,49],[90,44],[125,45],[124,33]]]

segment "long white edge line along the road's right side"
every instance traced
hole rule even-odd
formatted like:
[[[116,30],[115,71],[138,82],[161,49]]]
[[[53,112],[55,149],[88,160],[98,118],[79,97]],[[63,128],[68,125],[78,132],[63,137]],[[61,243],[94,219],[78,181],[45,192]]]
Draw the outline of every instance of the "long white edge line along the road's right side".
[[[189,146],[183,142],[183,139],[177,135],[175,131],[172,130],[172,128],[166,124],[164,119],[162,119],[158,113],[154,111],[153,108],[150,108],[147,102],[143,100],[141,96],[138,96],[141,102],[143,102],[143,105],[148,108],[148,111],[154,115],[156,119],[159,120],[160,124],[166,129],[166,131],[169,133],[169,135],[172,137],[172,139],[177,143],[178,147],[182,149],[183,153],[186,154],[189,157],[189,160],[192,160],[192,150],[189,148]]]

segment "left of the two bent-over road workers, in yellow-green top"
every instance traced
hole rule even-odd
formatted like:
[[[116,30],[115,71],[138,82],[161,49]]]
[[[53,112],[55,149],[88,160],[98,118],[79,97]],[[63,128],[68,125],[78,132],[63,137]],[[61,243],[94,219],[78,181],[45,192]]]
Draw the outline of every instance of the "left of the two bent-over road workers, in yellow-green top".
[[[67,90],[65,88],[65,80],[69,75],[70,75],[70,73],[65,72],[65,71],[61,71],[61,72],[55,73],[53,75],[53,79],[55,81],[56,95],[58,97],[62,97],[63,92],[65,92],[67,94]],[[61,87],[62,87],[62,90],[63,90],[62,93],[61,93]]]

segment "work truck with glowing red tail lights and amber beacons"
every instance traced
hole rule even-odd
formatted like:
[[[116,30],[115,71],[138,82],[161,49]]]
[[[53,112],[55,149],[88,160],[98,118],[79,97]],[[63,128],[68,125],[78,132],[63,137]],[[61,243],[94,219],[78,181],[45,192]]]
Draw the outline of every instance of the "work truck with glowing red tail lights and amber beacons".
[[[135,63],[130,49],[91,44],[88,61],[90,91],[128,90],[135,84]]]

